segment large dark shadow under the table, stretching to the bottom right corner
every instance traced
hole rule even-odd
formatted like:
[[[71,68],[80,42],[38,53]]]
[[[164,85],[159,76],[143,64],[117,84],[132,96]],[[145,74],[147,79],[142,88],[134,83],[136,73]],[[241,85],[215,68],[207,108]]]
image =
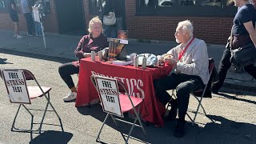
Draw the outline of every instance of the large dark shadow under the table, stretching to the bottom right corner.
[[[106,117],[106,113],[102,111],[100,105],[93,105],[86,107],[78,107],[78,112],[84,115],[90,115],[103,122]],[[163,127],[156,127],[154,125],[146,126],[146,122],[142,122],[146,130],[146,136],[144,136],[142,130],[138,127],[134,127],[131,134],[131,139],[142,143],[254,143],[256,140],[256,126],[245,122],[234,122],[222,116],[207,115],[208,118],[213,119],[214,122],[208,122],[203,124],[204,126],[198,126],[197,124],[192,126],[191,122],[186,122],[186,135],[183,138],[175,138],[173,136],[173,130],[176,126],[177,119],[165,123]],[[132,121],[131,118],[125,116],[125,120]],[[130,125],[118,122],[118,127],[114,125],[111,118],[106,122],[107,126],[121,131],[125,135],[129,133]],[[98,127],[98,130],[100,127]],[[106,131],[102,130],[102,134]],[[120,134],[120,137],[122,135]],[[103,138],[102,138],[103,140]]]

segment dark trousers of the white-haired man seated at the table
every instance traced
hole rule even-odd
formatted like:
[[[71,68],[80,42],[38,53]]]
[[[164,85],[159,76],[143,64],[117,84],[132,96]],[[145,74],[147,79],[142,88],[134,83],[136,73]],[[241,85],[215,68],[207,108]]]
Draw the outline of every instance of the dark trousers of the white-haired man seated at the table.
[[[202,79],[196,75],[171,74],[166,78],[154,80],[155,94],[163,105],[170,101],[170,94],[166,90],[177,90],[178,118],[182,120],[185,120],[190,93],[202,89],[203,86]]]

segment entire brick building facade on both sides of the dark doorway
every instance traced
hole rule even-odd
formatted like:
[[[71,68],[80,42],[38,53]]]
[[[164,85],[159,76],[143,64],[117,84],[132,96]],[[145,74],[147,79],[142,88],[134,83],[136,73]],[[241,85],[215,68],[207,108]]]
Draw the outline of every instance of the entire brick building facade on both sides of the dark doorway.
[[[46,14],[45,31],[60,33],[58,21],[57,0],[50,0],[50,14]],[[230,35],[232,16],[154,16],[139,15],[136,13],[136,0],[125,1],[126,30],[129,31],[129,38],[153,39],[174,41],[174,32],[178,22],[190,19],[194,23],[194,35],[206,42],[225,44],[226,38]],[[91,13],[89,0],[82,0],[84,23],[87,26],[90,18],[95,14]],[[26,20],[22,14],[18,14],[20,30],[26,30]],[[0,13],[0,29],[13,29],[9,14]]]

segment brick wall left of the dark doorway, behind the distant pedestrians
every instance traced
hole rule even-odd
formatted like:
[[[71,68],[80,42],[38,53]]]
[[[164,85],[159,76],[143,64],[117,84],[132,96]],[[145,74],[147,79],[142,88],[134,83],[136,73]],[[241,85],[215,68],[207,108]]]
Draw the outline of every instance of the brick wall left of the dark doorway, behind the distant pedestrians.
[[[45,31],[46,32],[52,32],[52,33],[58,33],[58,17],[55,7],[55,2],[50,1],[50,14],[46,14],[45,19]],[[9,14],[0,14],[0,29],[5,30],[13,30],[14,24],[10,19]],[[19,19],[19,26],[21,31],[26,31],[26,19],[23,14],[18,14]]]

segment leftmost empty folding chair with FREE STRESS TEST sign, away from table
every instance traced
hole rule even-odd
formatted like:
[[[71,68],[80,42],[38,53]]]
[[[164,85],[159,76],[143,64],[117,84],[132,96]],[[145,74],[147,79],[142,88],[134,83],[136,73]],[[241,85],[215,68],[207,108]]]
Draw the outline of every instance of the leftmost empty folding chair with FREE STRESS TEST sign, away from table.
[[[64,131],[62,126],[62,120],[59,117],[56,110],[54,109],[54,106],[50,102],[51,87],[40,86],[38,81],[34,77],[34,74],[32,74],[29,70],[3,69],[1,70],[0,76],[2,77],[2,79],[6,84],[6,90],[10,98],[10,102],[19,104],[17,113],[15,114],[15,117],[14,117],[14,122],[11,127],[11,131],[19,131],[19,132],[38,131],[38,133],[41,134],[42,123],[46,116],[46,111],[54,111],[54,113],[58,117],[62,131]],[[26,81],[28,80],[34,80],[37,86],[27,86]],[[33,124],[35,123],[34,123],[34,115],[30,112],[30,110],[33,110],[33,109],[28,109],[25,105],[25,104],[31,104],[31,100],[35,98],[46,98],[46,102],[47,102],[46,108],[43,110],[42,120],[39,123],[40,125],[38,127],[38,130],[32,130]],[[15,127],[16,118],[22,106],[31,115],[30,130],[18,129]],[[52,110],[48,110],[48,106],[50,106]]]

